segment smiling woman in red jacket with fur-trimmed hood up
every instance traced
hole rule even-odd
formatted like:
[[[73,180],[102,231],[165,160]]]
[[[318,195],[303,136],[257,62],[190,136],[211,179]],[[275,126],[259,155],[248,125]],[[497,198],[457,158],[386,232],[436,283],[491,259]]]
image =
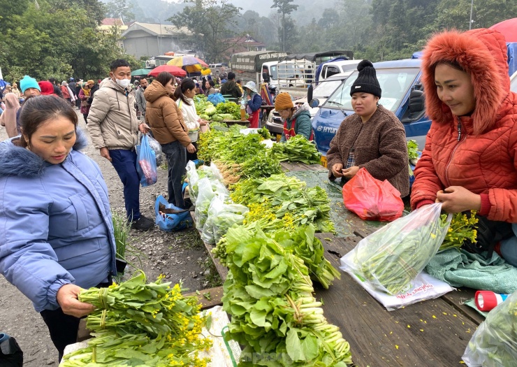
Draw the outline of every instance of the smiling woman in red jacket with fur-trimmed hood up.
[[[425,108],[432,120],[415,169],[412,208],[435,201],[448,213],[477,210],[477,243],[517,266],[517,94],[510,92],[504,36],[446,31],[423,52]]]

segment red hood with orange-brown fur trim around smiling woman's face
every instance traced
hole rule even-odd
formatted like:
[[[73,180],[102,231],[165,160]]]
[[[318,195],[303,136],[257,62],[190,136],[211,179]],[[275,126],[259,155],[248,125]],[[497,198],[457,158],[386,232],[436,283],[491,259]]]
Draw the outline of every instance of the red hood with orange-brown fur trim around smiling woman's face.
[[[439,100],[435,85],[435,67],[442,61],[456,62],[471,75],[476,98],[471,116],[474,134],[489,130],[510,91],[504,36],[492,29],[445,31],[428,42],[422,57],[425,110],[431,120],[449,123],[451,109]]]

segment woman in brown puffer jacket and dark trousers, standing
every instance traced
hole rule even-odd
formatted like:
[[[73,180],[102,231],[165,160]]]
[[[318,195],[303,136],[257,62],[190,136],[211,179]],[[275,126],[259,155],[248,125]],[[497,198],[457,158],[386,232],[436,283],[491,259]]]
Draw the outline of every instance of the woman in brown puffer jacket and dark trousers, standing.
[[[174,84],[173,75],[164,71],[145,89],[145,120],[150,124],[154,138],[161,144],[161,150],[167,157],[168,202],[184,209],[182,177],[186,171],[187,152],[194,154],[196,147],[191,143],[189,128],[183,120],[181,110],[171,98],[175,89],[180,89]]]

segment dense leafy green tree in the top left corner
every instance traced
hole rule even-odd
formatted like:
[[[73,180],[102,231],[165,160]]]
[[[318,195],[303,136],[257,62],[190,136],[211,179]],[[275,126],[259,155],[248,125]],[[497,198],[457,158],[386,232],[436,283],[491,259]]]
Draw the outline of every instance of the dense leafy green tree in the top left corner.
[[[38,80],[108,75],[110,62],[126,56],[117,38],[97,29],[89,13],[96,5],[89,0],[38,0],[38,7],[30,1],[22,12],[10,15],[13,26],[0,38],[6,80],[17,81],[26,74]]]

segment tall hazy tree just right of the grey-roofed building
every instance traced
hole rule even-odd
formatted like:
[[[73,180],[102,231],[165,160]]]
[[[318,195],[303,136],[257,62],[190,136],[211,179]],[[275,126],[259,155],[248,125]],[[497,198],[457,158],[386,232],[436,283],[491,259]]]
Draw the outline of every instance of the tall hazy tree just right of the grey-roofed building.
[[[235,20],[240,8],[233,6],[229,0],[188,0],[181,13],[168,18],[176,27],[185,27],[192,33],[196,48],[205,53],[209,60],[219,60],[231,50],[235,43],[228,38],[235,35]]]

